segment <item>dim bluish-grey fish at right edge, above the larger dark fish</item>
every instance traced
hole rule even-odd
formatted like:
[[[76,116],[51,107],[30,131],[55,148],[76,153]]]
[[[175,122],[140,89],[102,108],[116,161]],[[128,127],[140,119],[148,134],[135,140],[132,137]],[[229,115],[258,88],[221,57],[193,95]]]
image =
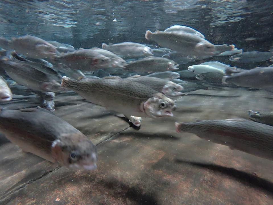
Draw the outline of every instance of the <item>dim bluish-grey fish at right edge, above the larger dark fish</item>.
[[[272,58],[272,52],[250,51],[230,56],[229,60],[237,63],[263,62]]]

